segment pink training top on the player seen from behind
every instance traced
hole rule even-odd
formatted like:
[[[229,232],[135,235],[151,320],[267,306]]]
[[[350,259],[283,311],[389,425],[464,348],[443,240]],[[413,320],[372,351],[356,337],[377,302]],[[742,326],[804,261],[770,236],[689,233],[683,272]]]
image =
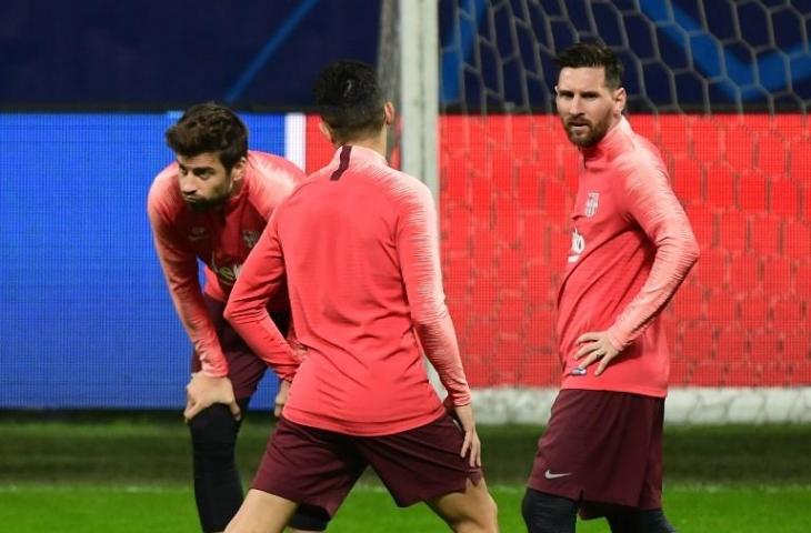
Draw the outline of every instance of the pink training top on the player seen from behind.
[[[286,274],[300,366],[264,309]],[[281,378],[296,375],[283,413],[299,424],[386,435],[437,420],[420,343],[454,404],[470,403],[431,193],[368,148],[340,148],[277,209],[226,318]]]

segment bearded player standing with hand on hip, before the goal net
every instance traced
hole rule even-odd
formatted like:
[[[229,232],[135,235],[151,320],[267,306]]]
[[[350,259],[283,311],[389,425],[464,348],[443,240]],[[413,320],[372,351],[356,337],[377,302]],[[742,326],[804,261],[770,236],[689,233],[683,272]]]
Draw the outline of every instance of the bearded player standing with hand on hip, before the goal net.
[[[558,56],[558,114],[580,150],[572,247],[558,295],[561,390],[538,442],[523,517],[531,533],[605,516],[614,533],[671,532],[662,512],[669,355],[662,308],[699,257],[659,151],[623,117],[617,56]]]

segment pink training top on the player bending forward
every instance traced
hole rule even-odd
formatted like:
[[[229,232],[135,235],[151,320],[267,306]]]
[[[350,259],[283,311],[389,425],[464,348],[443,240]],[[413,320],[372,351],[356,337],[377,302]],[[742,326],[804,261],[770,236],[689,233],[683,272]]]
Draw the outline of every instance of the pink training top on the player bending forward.
[[[204,263],[206,293],[224,302],[273,209],[303,178],[290,161],[250,151],[242,188],[221,210],[196,213],[186,205],[177,163],[163,169],[149,190],[147,211],[158,258],[174,308],[207,375],[228,375],[228,362],[206,311],[197,261]],[[284,296],[273,305],[286,309]]]

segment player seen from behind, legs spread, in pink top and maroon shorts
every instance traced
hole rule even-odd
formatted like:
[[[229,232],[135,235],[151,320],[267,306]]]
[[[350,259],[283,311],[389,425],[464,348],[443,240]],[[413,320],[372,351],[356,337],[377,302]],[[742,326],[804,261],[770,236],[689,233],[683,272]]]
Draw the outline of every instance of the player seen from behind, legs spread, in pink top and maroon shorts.
[[[425,502],[453,531],[494,532],[431,193],[387,164],[394,110],[371,67],[334,62],[313,92],[338,150],[273,213],[226,309],[257,354],[292,380],[226,531],[279,532],[299,504],[332,515],[371,466],[398,505]],[[266,310],[286,280],[307,350],[300,363]],[[459,424],[428,381],[420,344]]]

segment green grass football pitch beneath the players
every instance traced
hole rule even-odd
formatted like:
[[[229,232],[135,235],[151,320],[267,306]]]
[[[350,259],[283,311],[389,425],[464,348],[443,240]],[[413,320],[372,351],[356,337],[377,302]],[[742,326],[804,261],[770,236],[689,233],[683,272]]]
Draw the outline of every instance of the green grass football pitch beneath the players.
[[[252,413],[240,469],[250,480],[272,425]],[[481,428],[502,532],[523,532],[523,479],[540,428]],[[665,511],[682,533],[811,531],[805,425],[668,428]],[[9,533],[199,531],[188,435],[168,413],[0,413],[0,527]],[[330,532],[442,532],[423,505],[398,509],[363,479]],[[603,521],[579,532],[608,532]]]

